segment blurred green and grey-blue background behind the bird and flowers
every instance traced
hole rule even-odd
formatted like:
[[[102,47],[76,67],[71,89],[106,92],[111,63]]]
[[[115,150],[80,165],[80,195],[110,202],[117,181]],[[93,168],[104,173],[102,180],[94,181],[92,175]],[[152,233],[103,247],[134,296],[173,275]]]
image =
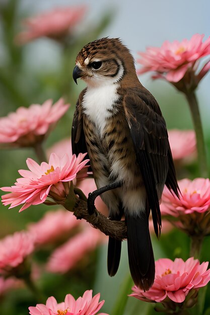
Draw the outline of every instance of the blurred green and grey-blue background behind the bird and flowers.
[[[17,35],[25,28],[22,24],[23,19],[56,8],[72,6],[83,8],[84,14],[74,27],[70,28],[67,39],[41,36],[25,43],[18,41]],[[66,103],[71,104],[71,107],[59,120],[45,141],[44,147],[47,149],[63,138],[69,138],[75,104],[80,91],[84,88],[81,81],[78,81],[78,86],[76,86],[72,72],[77,53],[85,44],[105,36],[120,37],[136,59],[138,52],[145,51],[148,46],[160,47],[165,40],[190,39],[195,33],[205,34],[204,39],[206,39],[209,36],[209,11],[208,0],[199,2],[195,0],[177,0],[176,2],[168,0],[90,0],[88,2],[0,0],[0,116],[7,116],[9,112],[16,111],[20,106],[43,104],[47,99],[53,99],[53,102],[56,102],[63,97]],[[136,68],[139,67],[136,64]],[[210,144],[209,78],[208,73],[197,90],[204,136],[208,146]],[[192,129],[190,112],[181,93],[166,82],[152,81],[149,74],[139,76],[139,80],[157,99],[168,129]],[[31,148],[1,149],[1,187],[13,185],[18,177],[17,171],[26,169],[27,157],[36,160]],[[195,176],[196,163],[186,167],[185,171],[188,177]],[[48,208],[45,205],[31,206],[18,213],[17,208],[8,210],[7,207],[0,205],[0,237],[26,228],[29,222],[39,220]],[[176,256],[186,259],[188,257],[189,241],[186,235],[179,231],[171,233],[178,246],[171,248],[171,238],[167,235],[162,235],[160,242],[154,239],[156,259],[160,257],[174,259]],[[86,265],[87,269],[82,267],[83,272],[76,269],[65,275],[45,273],[39,281],[45,287],[47,294],[54,295],[59,300],[63,300],[67,293],[72,293],[77,297],[83,294],[84,290],[93,288],[95,293],[101,292],[102,299],[105,299],[103,310],[110,312],[116,297],[115,293],[123,281],[122,275],[128,272],[126,254],[124,255],[126,242],[123,243],[125,243],[123,259],[115,278],[107,276],[105,245],[98,248],[94,254],[92,253]],[[46,257],[46,252],[37,254],[36,260],[44,263]],[[27,295],[27,293],[24,294]],[[30,294],[27,295],[28,300],[24,301],[24,294],[11,292],[9,297],[3,300],[1,309],[7,311],[20,309],[18,314],[27,314],[27,307],[35,305],[37,301]],[[130,299],[126,314],[140,314],[139,303],[141,302]],[[144,307],[149,309],[150,305],[145,304],[141,306],[141,311]]]

